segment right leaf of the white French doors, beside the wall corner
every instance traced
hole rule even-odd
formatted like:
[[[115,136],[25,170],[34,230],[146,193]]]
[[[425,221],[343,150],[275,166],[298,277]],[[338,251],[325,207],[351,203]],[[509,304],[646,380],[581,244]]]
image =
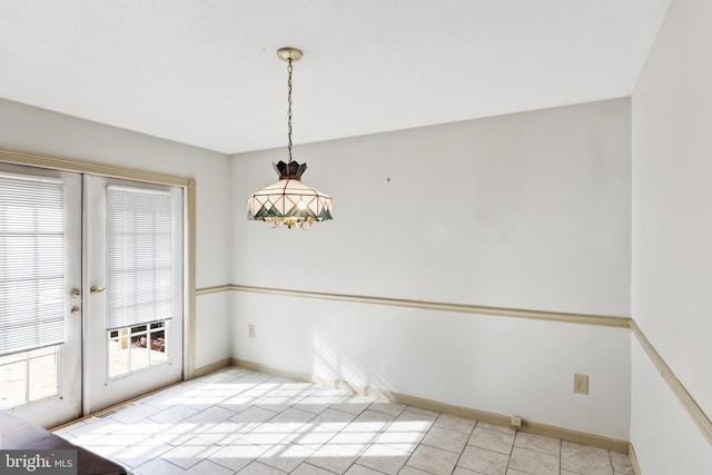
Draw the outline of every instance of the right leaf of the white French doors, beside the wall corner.
[[[182,377],[182,190],[85,176],[85,413]]]

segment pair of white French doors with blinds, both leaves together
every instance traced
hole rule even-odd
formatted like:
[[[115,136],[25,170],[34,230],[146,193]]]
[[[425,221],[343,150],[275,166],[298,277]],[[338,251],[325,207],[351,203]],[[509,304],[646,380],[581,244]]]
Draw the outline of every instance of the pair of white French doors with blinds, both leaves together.
[[[182,376],[182,190],[0,164],[0,408],[44,427]]]

